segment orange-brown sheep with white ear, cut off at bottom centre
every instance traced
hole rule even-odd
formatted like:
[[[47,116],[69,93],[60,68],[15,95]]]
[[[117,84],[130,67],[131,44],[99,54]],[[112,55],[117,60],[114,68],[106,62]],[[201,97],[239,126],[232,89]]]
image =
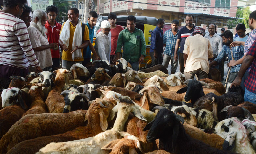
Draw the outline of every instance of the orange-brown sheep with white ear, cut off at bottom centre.
[[[107,152],[111,150],[109,154],[144,153],[139,138],[127,132],[120,132],[120,134],[124,138],[113,140],[101,149],[107,150]]]

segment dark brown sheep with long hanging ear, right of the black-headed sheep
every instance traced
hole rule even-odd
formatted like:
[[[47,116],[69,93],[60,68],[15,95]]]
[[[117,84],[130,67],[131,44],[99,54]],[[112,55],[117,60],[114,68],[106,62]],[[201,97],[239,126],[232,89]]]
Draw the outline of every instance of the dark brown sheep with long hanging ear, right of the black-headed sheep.
[[[217,112],[221,111],[225,106],[234,105],[237,106],[244,101],[244,98],[237,93],[228,92],[221,96],[217,96],[213,93],[208,93],[205,96],[199,98],[194,104],[194,108],[204,108],[213,112],[214,119],[218,120]]]

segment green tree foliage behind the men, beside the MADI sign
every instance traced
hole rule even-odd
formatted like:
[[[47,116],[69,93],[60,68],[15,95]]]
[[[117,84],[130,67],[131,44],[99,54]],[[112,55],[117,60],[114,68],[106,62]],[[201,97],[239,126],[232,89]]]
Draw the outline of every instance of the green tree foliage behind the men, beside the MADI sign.
[[[64,18],[64,21],[68,20],[68,10],[72,8],[71,4],[68,3],[68,1],[63,0],[53,0],[53,5],[58,8],[58,15],[56,18],[57,22],[62,22],[62,19]]]

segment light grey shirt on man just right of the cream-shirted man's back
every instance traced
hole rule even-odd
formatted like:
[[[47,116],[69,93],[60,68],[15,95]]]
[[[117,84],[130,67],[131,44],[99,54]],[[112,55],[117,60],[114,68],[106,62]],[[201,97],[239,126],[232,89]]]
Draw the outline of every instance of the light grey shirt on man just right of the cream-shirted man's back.
[[[218,55],[222,50],[222,38],[217,34],[210,37],[210,33],[205,34],[204,37],[210,40],[213,54]]]

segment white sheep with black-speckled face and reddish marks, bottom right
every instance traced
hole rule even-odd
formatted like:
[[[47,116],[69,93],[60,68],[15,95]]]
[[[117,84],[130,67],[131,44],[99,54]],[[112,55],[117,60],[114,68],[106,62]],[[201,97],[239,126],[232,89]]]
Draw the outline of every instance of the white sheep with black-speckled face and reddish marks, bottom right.
[[[225,119],[220,123],[224,123],[229,128],[225,141],[223,143],[223,149],[235,153],[252,153],[255,154],[255,150],[250,144],[248,138],[248,132],[241,121],[235,117]],[[225,133],[226,134],[226,133]]]

